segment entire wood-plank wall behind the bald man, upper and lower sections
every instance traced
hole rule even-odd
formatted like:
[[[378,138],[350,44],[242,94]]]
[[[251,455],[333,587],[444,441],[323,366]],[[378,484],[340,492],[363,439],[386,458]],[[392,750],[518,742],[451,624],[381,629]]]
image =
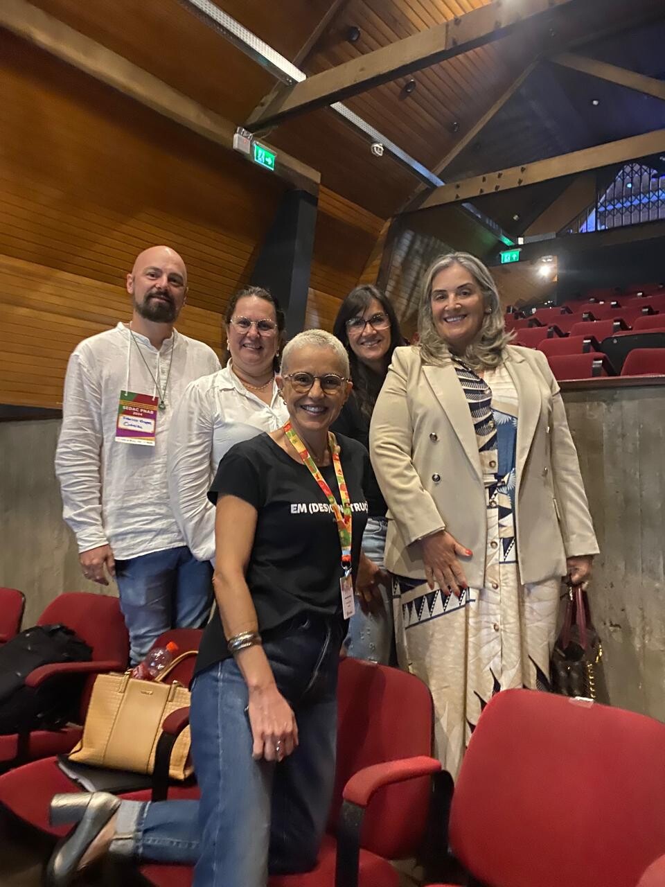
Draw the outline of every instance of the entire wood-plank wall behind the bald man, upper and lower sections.
[[[124,279],[167,243],[184,334],[220,349],[284,185],[46,53],[0,34],[0,403],[56,407],[78,341],[129,317]]]

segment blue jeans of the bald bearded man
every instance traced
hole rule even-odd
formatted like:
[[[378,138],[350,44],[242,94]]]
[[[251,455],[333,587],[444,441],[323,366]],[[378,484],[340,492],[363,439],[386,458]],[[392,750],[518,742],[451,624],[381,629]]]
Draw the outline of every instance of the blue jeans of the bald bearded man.
[[[213,601],[213,569],[187,546],[115,561],[129,661],[139,663],[169,628],[202,628]]]

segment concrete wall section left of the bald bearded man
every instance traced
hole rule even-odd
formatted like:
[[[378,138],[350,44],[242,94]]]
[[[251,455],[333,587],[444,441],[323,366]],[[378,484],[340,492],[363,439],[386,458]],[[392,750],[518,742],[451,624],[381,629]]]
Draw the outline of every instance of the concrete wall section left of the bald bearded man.
[[[116,593],[81,575],[53,458],[59,420],[0,422],[0,585],[26,595],[23,626],[61,592]]]

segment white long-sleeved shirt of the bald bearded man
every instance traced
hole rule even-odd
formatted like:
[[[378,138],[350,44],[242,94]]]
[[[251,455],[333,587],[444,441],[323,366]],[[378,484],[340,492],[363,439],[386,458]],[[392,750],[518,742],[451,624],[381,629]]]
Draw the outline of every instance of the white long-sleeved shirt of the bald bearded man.
[[[184,546],[168,501],[168,426],[184,389],[220,365],[213,349],[176,330],[159,350],[143,335],[134,338],[119,323],[74,349],[55,462],[63,516],[79,552],[108,544],[119,560]],[[121,443],[115,440],[121,391],[157,393],[147,367],[166,388],[155,445]]]

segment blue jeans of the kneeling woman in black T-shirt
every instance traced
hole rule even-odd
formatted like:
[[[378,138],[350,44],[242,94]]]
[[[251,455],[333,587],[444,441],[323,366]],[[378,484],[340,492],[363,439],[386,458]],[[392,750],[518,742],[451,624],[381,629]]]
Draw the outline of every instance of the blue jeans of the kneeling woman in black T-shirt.
[[[337,670],[344,624],[298,616],[264,643],[299,745],[279,764],[252,757],[247,687],[233,659],[192,687],[192,753],[200,801],[124,801],[112,851],[195,864],[195,887],[265,887],[268,873],[314,867],[330,811]]]

